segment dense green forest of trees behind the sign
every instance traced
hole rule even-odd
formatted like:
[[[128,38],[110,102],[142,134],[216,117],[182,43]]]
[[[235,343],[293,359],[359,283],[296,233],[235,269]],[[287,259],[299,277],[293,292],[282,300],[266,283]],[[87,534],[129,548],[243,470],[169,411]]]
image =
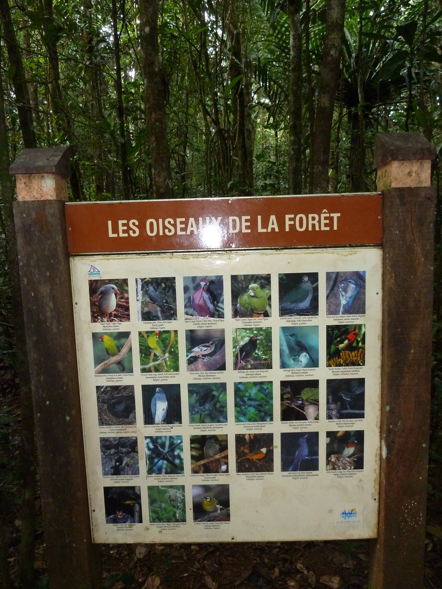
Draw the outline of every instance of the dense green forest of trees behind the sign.
[[[441,16],[442,0],[0,0],[0,368],[21,400],[17,409],[6,395],[0,408],[2,589],[10,565],[14,582],[35,586],[37,472],[9,175],[24,147],[70,145],[71,200],[342,193],[375,190],[376,133],[421,131],[437,153],[430,475],[440,475]]]

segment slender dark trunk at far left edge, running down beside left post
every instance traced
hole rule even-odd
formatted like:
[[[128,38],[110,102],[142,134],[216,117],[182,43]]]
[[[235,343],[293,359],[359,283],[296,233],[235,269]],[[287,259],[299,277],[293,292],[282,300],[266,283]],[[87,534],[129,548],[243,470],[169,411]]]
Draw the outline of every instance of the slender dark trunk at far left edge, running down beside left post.
[[[0,53],[1,61],[1,53]],[[23,478],[21,503],[21,544],[18,552],[18,577],[21,587],[34,587],[34,551],[35,551],[35,486],[36,453],[34,445],[34,409],[32,407],[31,379],[29,378],[28,353],[24,337],[25,323],[19,267],[15,241],[14,185],[9,174],[8,134],[6,130],[4,90],[0,77],[0,182],[4,206],[7,260],[9,278],[14,296],[12,297],[13,322],[15,332],[15,349],[17,352],[17,375],[20,383],[21,405],[21,471]]]

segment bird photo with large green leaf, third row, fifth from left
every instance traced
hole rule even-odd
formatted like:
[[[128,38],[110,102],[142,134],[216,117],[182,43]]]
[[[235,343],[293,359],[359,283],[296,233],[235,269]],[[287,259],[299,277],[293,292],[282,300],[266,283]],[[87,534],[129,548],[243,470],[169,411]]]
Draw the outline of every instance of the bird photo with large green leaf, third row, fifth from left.
[[[281,380],[281,421],[319,419],[319,380]]]

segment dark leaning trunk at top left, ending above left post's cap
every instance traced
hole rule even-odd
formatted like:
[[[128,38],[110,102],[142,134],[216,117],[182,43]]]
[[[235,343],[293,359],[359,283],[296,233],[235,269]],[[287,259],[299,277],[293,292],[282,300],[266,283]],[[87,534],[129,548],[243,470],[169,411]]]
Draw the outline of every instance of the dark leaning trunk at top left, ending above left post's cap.
[[[17,37],[15,36],[8,0],[0,0],[0,18],[3,24],[3,35],[6,41],[6,48],[8,49],[9,63],[14,68],[12,84],[14,85],[15,99],[17,101],[18,120],[23,143],[27,148],[37,147],[31,102],[29,101],[28,82]]]

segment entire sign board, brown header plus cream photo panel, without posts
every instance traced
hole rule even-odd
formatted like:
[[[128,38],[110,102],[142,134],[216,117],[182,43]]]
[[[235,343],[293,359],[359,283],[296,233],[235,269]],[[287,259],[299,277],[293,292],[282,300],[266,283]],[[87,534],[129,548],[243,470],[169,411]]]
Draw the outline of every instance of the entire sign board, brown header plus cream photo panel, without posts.
[[[67,204],[93,541],[376,537],[381,211]]]

